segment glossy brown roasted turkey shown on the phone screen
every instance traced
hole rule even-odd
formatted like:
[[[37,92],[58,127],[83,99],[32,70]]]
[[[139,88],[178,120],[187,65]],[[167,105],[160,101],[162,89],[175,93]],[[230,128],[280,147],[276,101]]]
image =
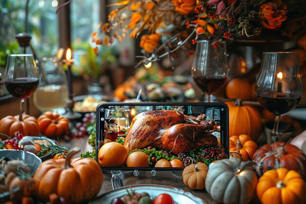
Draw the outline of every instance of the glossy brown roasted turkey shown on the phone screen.
[[[218,139],[210,133],[215,121],[206,115],[188,116],[178,111],[148,111],[137,114],[124,141],[128,152],[153,146],[174,154],[200,149],[205,144],[217,145]]]

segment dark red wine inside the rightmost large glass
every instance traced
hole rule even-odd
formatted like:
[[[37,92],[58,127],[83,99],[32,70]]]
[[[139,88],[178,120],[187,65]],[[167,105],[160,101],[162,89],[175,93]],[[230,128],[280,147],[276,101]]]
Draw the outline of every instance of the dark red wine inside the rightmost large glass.
[[[278,115],[291,111],[297,107],[302,98],[290,97],[290,95],[278,95],[275,97],[274,95],[274,93],[263,92],[262,95],[258,95],[256,98],[264,109]]]

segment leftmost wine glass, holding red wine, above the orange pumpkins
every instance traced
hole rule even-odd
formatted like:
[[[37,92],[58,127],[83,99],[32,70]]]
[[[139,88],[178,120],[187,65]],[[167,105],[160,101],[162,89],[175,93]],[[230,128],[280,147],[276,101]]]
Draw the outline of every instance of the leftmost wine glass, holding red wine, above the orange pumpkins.
[[[4,75],[5,88],[20,100],[19,120],[22,121],[24,100],[32,95],[39,84],[33,54],[9,54]]]

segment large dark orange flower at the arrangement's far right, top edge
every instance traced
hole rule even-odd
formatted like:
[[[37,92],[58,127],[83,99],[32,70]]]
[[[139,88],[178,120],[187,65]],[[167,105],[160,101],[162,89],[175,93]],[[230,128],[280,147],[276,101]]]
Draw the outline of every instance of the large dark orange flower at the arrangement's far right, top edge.
[[[281,0],[263,3],[260,6],[259,15],[262,18],[262,26],[268,29],[275,29],[282,26],[287,17],[287,5]]]

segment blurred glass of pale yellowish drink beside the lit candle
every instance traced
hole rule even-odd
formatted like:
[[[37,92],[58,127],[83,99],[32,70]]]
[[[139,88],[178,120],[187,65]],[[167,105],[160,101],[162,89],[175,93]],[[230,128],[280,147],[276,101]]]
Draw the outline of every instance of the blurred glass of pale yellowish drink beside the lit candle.
[[[33,94],[34,105],[41,112],[65,113],[68,87],[60,61],[56,58],[42,58],[39,67],[41,80]]]

